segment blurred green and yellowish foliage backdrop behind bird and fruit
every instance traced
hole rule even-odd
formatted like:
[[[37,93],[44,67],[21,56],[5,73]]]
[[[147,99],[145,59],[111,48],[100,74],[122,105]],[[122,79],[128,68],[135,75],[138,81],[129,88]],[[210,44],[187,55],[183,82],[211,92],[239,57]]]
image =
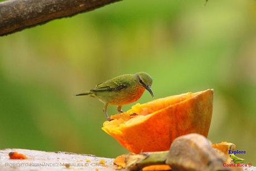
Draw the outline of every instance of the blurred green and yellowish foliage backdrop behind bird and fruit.
[[[156,98],[214,89],[208,138],[255,165],[256,1],[204,4],[122,1],[1,37],[0,148],[127,153],[101,129],[103,104],[74,95],[145,71]]]

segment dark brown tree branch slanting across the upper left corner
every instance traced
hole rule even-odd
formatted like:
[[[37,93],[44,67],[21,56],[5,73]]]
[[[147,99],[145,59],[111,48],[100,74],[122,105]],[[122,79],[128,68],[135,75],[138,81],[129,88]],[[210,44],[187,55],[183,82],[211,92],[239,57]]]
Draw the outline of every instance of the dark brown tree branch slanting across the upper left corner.
[[[0,3],[0,36],[120,0],[9,0]]]

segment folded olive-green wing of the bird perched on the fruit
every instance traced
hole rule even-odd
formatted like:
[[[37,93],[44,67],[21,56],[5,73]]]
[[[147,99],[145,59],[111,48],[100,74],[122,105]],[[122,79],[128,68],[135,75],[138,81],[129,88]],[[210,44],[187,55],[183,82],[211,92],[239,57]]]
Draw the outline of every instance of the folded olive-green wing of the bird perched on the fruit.
[[[123,79],[108,80],[96,85],[95,89],[90,91],[119,91],[126,89],[129,86],[128,82]]]

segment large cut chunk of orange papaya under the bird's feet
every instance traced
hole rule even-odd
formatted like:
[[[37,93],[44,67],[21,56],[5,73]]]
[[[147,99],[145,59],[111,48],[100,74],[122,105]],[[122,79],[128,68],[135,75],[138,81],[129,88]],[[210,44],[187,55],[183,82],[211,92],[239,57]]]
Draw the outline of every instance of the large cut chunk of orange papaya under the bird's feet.
[[[213,90],[168,96],[136,104],[111,116],[103,130],[134,153],[168,150],[177,136],[207,136],[212,114]]]

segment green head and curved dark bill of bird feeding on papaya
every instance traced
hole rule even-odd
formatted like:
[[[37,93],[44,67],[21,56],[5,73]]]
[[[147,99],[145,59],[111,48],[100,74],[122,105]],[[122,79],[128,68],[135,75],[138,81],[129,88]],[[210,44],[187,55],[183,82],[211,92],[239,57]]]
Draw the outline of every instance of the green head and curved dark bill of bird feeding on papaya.
[[[135,76],[138,81],[138,84],[143,86],[146,90],[148,90],[151,96],[154,97],[153,91],[151,89],[151,85],[153,82],[152,77],[148,75],[146,72],[137,72]]]

